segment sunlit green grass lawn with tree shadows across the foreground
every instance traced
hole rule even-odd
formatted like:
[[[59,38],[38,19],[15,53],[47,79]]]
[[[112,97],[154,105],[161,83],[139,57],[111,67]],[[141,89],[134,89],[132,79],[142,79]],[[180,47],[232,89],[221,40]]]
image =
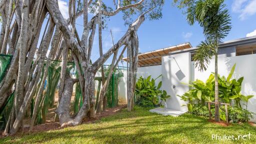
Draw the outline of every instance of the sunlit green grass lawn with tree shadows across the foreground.
[[[95,123],[5,137],[0,143],[256,143],[256,128],[249,124],[223,127],[191,114],[172,117],[148,110],[123,109]],[[211,134],[248,133],[250,140],[211,140]]]

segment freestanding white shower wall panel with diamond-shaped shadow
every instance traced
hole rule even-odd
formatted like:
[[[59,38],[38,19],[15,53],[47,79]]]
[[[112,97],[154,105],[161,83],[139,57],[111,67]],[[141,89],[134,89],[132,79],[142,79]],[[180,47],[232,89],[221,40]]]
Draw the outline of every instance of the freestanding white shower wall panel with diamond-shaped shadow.
[[[190,80],[190,53],[173,54],[162,57],[162,89],[170,95],[166,100],[165,107],[180,111],[187,111],[183,100],[178,95],[182,95],[189,90],[187,85]],[[173,88],[173,85],[175,88]]]

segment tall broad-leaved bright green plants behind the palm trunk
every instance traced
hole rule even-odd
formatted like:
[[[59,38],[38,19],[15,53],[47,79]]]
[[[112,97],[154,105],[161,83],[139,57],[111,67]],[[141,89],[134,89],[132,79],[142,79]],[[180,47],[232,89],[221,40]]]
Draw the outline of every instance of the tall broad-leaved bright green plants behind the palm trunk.
[[[234,99],[235,105],[241,108],[240,101],[245,101],[244,104],[247,107],[248,99],[253,95],[243,95],[241,94],[241,84],[243,77],[236,79],[231,79],[235,69],[235,64],[232,66],[231,71],[225,76],[218,75],[218,89],[219,89],[219,102],[231,103],[231,99]],[[185,92],[183,95],[177,95],[182,100],[187,102],[188,111],[191,111],[194,104],[205,105],[205,101],[214,100],[214,73],[210,74],[208,79],[203,82],[199,79],[192,81],[191,84],[188,84],[192,89]],[[246,108],[247,109],[247,108]]]

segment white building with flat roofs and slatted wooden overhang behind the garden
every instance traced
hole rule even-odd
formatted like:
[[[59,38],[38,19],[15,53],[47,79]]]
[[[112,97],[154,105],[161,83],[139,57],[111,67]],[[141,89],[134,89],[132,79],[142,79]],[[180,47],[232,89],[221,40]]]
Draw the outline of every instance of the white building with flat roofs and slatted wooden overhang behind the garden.
[[[189,90],[187,85],[195,79],[205,81],[211,72],[214,72],[214,57],[206,71],[199,71],[191,60],[197,48],[191,44],[183,43],[138,55],[137,76],[155,78],[162,74],[162,89],[166,90],[170,98],[166,100],[168,109],[185,112],[187,107],[182,106],[184,101],[177,94],[182,95]],[[219,44],[218,73],[227,76],[232,65],[236,63],[232,78],[244,77],[241,93],[255,95],[248,102],[248,110],[256,113],[256,36],[225,41]],[[125,58],[124,58],[125,60]],[[254,64],[253,64],[254,63]],[[156,82],[157,83],[157,82]],[[256,116],[252,120],[256,122]]]

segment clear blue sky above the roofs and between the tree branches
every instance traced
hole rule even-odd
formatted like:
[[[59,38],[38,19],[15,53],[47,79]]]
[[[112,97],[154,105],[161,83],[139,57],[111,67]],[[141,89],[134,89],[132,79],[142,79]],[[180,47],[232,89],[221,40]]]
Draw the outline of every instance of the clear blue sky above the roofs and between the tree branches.
[[[246,37],[246,35],[256,35],[256,0],[225,0],[225,3],[231,15],[232,29],[224,40]],[[82,24],[82,17],[78,18],[76,23],[77,29],[82,31],[82,26],[78,25]],[[115,42],[124,34],[124,32],[118,31],[126,31],[127,29],[121,14],[112,16],[107,21],[107,25],[107,29],[104,30],[111,29],[113,31]],[[112,41],[109,31],[103,31],[102,33],[104,52],[112,46]],[[192,26],[189,25],[185,15],[182,14],[182,10],[172,5],[172,0],[165,0],[161,19],[151,21],[146,19],[139,27],[137,34],[139,38],[139,52],[146,52],[184,42],[190,42],[192,46],[196,46],[204,39],[202,28],[197,23]],[[99,56],[97,35],[95,35],[94,41],[91,56],[93,61]],[[109,59],[106,63],[110,63],[110,61]]]

